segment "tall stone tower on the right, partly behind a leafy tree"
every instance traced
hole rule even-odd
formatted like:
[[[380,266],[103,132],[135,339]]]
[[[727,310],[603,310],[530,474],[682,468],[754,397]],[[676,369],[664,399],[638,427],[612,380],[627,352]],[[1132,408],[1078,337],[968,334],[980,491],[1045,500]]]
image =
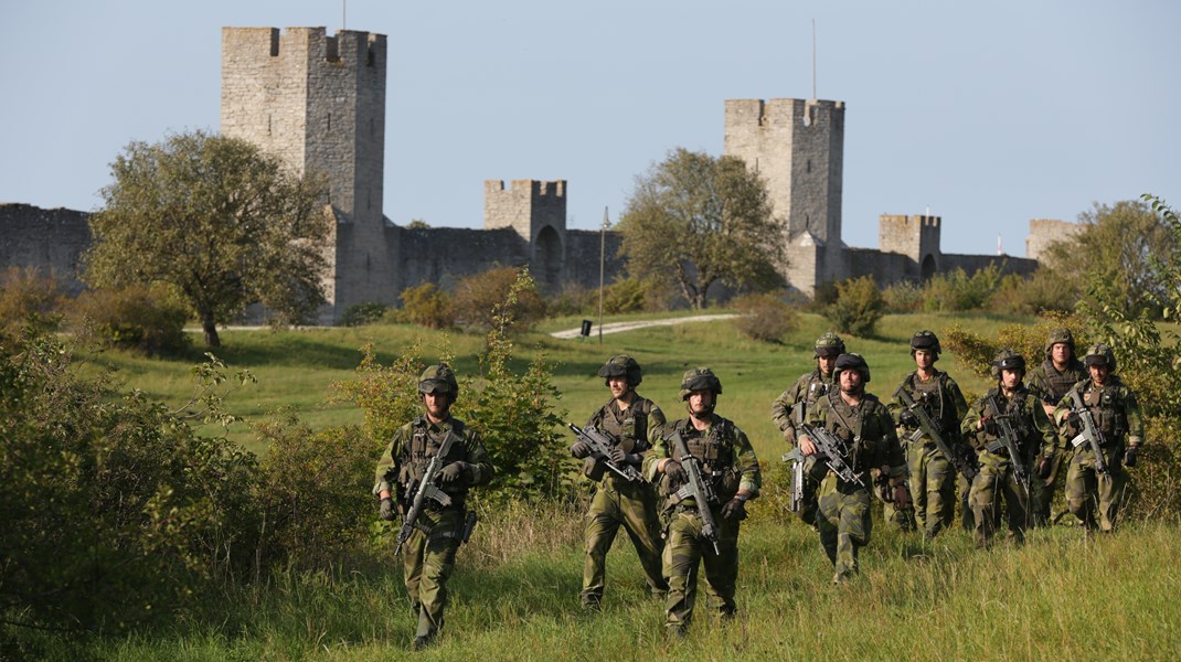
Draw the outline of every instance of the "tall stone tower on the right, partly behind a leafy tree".
[[[729,99],[723,151],[766,181],[784,224],[788,282],[807,294],[846,277],[841,241],[844,103]]]

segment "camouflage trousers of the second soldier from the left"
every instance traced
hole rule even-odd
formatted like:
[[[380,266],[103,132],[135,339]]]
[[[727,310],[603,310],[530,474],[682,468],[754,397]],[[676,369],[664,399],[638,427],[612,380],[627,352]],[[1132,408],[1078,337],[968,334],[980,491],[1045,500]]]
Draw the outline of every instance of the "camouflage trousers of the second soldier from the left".
[[[586,514],[586,562],[579,596],[583,605],[598,607],[602,602],[607,551],[620,526],[635,546],[652,594],[663,597],[668,590],[660,566],[664,540],[660,539],[655,490],[648,483],[620,485],[614,478],[607,478],[595,487]]]

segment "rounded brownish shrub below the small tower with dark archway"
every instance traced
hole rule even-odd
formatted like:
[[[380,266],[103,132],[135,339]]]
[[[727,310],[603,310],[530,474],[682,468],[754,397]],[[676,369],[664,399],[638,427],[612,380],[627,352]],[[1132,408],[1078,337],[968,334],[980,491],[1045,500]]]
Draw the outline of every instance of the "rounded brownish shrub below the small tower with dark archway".
[[[497,267],[482,274],[461,278],[455,288],[456,320],[466,329],[487,332],[494,326],[497,308],[509,300],[509,291],[521,275],[527,286],[516,293],[513,308],[505,313],[514,320],[514,327],[528,329],[533,322],[546,316],[546,302],[541,300],[537,284],[526,267]],[[522,281],[524,282],[524,281]]]

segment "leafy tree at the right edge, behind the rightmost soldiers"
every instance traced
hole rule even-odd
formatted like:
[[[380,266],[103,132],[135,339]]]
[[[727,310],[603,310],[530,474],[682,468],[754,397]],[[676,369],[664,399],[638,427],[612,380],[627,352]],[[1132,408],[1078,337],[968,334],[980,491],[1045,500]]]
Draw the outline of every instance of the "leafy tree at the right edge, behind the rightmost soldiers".
[[[1096,203],[1078,219],[1083,230],[1051,244],[1045,268],[1070,283],[1075,297],[1085,295],[1089,282],[1105,281],[1109,291],[1102,304],[1117,306],[1129,316],[1141,310],[1159,315],[1160,301],[1175,283],[1162,277],[1151,258],[1175,255],[1177,247],[1164,218],[1157,217],[1146,202],[1122,201],[1110,207]]]

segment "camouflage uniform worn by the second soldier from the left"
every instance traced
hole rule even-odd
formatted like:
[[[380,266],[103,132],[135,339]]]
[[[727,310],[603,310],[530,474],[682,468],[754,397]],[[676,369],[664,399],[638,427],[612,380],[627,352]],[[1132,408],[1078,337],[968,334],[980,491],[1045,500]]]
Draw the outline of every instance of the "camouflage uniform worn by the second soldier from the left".
[[[664,424],[665,417],[660,407],[652,400],[634,394],[626,409],[620,409],[619,402],[613,398],[590,417],[587,427],[595,427],[619,439],[628,455],[641,463],[650,448],[648,430],[660,430]],[[593,458],[588,458],[588,461],[595,463]],[[632,483],[608,471],[595,486],[586,516],[586,563],[582,570],[582,592],[579,596],[585,607],[598,608],[602,602],[607,550],[615,540],[620,525],[635,545],[648,589],[658,597],[663,597],[668,590],[660,568],[664,542],[660,539],[655,489],[646,480]]]

